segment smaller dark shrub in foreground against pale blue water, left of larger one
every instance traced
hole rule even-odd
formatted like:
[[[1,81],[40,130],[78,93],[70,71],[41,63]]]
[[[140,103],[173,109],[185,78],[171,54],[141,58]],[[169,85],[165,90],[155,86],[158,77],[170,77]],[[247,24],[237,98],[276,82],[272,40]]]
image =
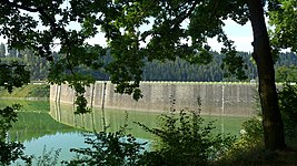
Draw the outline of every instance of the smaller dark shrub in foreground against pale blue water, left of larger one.
[[[145,149],[145,143],[139,143],[132,135],[126,135],[126,124],[120,131],[107,133],[106,131],[86,135],[86,148],[71,148],[77,157],[70,162],[62,162],[69,166],[97,165],[97,166],[133,166],[138,165]]]

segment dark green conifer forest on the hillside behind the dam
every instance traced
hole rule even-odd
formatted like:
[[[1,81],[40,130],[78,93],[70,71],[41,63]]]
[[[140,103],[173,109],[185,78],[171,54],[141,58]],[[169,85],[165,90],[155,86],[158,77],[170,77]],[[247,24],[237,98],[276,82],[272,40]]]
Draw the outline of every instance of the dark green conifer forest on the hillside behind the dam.
[[[207,65],[190,64],[179,58],[176,61],[152,61],[147,62],[143,68],[143,81],[196,81],[196,82],[221,82],[221,81],[238,81],[235,76],[228,75],[221,70],[224,54],[211,52],[212,61]],[[257,79],[257,69],[248,52],[238,52],[246,62],[246,81]],[[53,56],[59,56],[55,53]],[[8,50],[4,43],[0,43],[1,62],[18,61],[26,65],[31,72],[31,81],[44,81],[48,76],[50,62],[46,59],[36,56],[31,50],[18,51],[14,49]],[[102,63],[108,64],[112,61],[109,52],[102,56]],[[294,53],[280,53],[275,63],[276,81],[284,81],[284,73],[289,77],[297,77],[297,55]],[[109,80],[109,75],[103,70],[87,71],[81,68],[81,72],[91,73],[97,80]],[[294,79],[291,79],[294,80]]]

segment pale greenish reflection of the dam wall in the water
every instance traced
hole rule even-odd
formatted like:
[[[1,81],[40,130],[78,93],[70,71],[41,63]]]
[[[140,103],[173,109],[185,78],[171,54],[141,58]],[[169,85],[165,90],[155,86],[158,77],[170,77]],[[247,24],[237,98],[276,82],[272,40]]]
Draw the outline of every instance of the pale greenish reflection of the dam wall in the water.
[[[126,115],[128,114],[128,121],[126,122]],[[128,124],[127,134],[132,134],[139,138],[151,139],[152,135],[145,132],[139,125],[133,122],[140,122],[149,127],[159,127],[160,113],[158,112],[141,112],[141,111],[128,111],[126,114],[122,110],[105,110],[103,114],[100,108],[93,108],[90,114],[76,115],[73,104],[65,104],[58,102],[51,102],[50,115],[58,121],[70,126],[83,128],[87,131],[103,131],[103,124],[108,126],[108,132],[117,132],[126,123]],[[105,118],[102,118],[105,117]],[[230,133],[231,135],[238,135],[241,128],[241,124],[246,117],[239,116],[202,116],[205,122],[214,122],[217,133]]]

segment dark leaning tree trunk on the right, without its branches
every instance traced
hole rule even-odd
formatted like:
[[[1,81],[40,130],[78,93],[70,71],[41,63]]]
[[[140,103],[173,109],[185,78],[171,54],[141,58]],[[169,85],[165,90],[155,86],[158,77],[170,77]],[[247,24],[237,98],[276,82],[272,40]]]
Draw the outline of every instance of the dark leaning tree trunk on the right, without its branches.
[[[254,54],[259,76],[259,96],[263,111],[265,147],[269,151],[287,148],[279,111],[274,61],[264,18],[261,0],[247,0],[254,32]]]

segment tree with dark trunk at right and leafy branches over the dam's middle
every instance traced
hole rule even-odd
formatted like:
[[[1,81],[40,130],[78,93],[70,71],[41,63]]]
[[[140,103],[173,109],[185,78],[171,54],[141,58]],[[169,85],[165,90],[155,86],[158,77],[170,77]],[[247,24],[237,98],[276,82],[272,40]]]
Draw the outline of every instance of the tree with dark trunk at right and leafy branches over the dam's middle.
[[[164,61],[179,56],[196,64],[209,63],[210,48],[206,41],[207,38],[214,37],[224,43],[221,53],[225,53],[226,58],[222,68],[239,79],[246,79],[244,70],[246,65],[242,59],[237,56],[232,41],[228,40],[222,27],[224,20],[227,19],[239,24],[245,24],[249,20],[254,32],[253,58],[259,77],[265,146],[271,151],[287,148],[276,93],[274,60],[264,18],[265,2],[263,0],[121,2],[126,10],[121,12],[120,19],[111,22],[113,29],[117,29],[117,35],[110,37],[110,45],[116,58],[109,69],[111,81],[119,84],[119,92],[128,90],[128,93],[131,93],[130,89],[137,87],[141,79],[137,73],[141,72],[139,65],[142,65],[143,58],[148,61],[154,59]],[[140,31],[140,25],[148,23],[149,19],[154,21],[152,28]],[[189,25],[184,28],[182,23],[187,20]],[[148,38],[151,39],[148,41]],[[146,46],[140,46],[140,42],[146,42]],[[129,84],[128,81],[131,80],[135,82]]]

